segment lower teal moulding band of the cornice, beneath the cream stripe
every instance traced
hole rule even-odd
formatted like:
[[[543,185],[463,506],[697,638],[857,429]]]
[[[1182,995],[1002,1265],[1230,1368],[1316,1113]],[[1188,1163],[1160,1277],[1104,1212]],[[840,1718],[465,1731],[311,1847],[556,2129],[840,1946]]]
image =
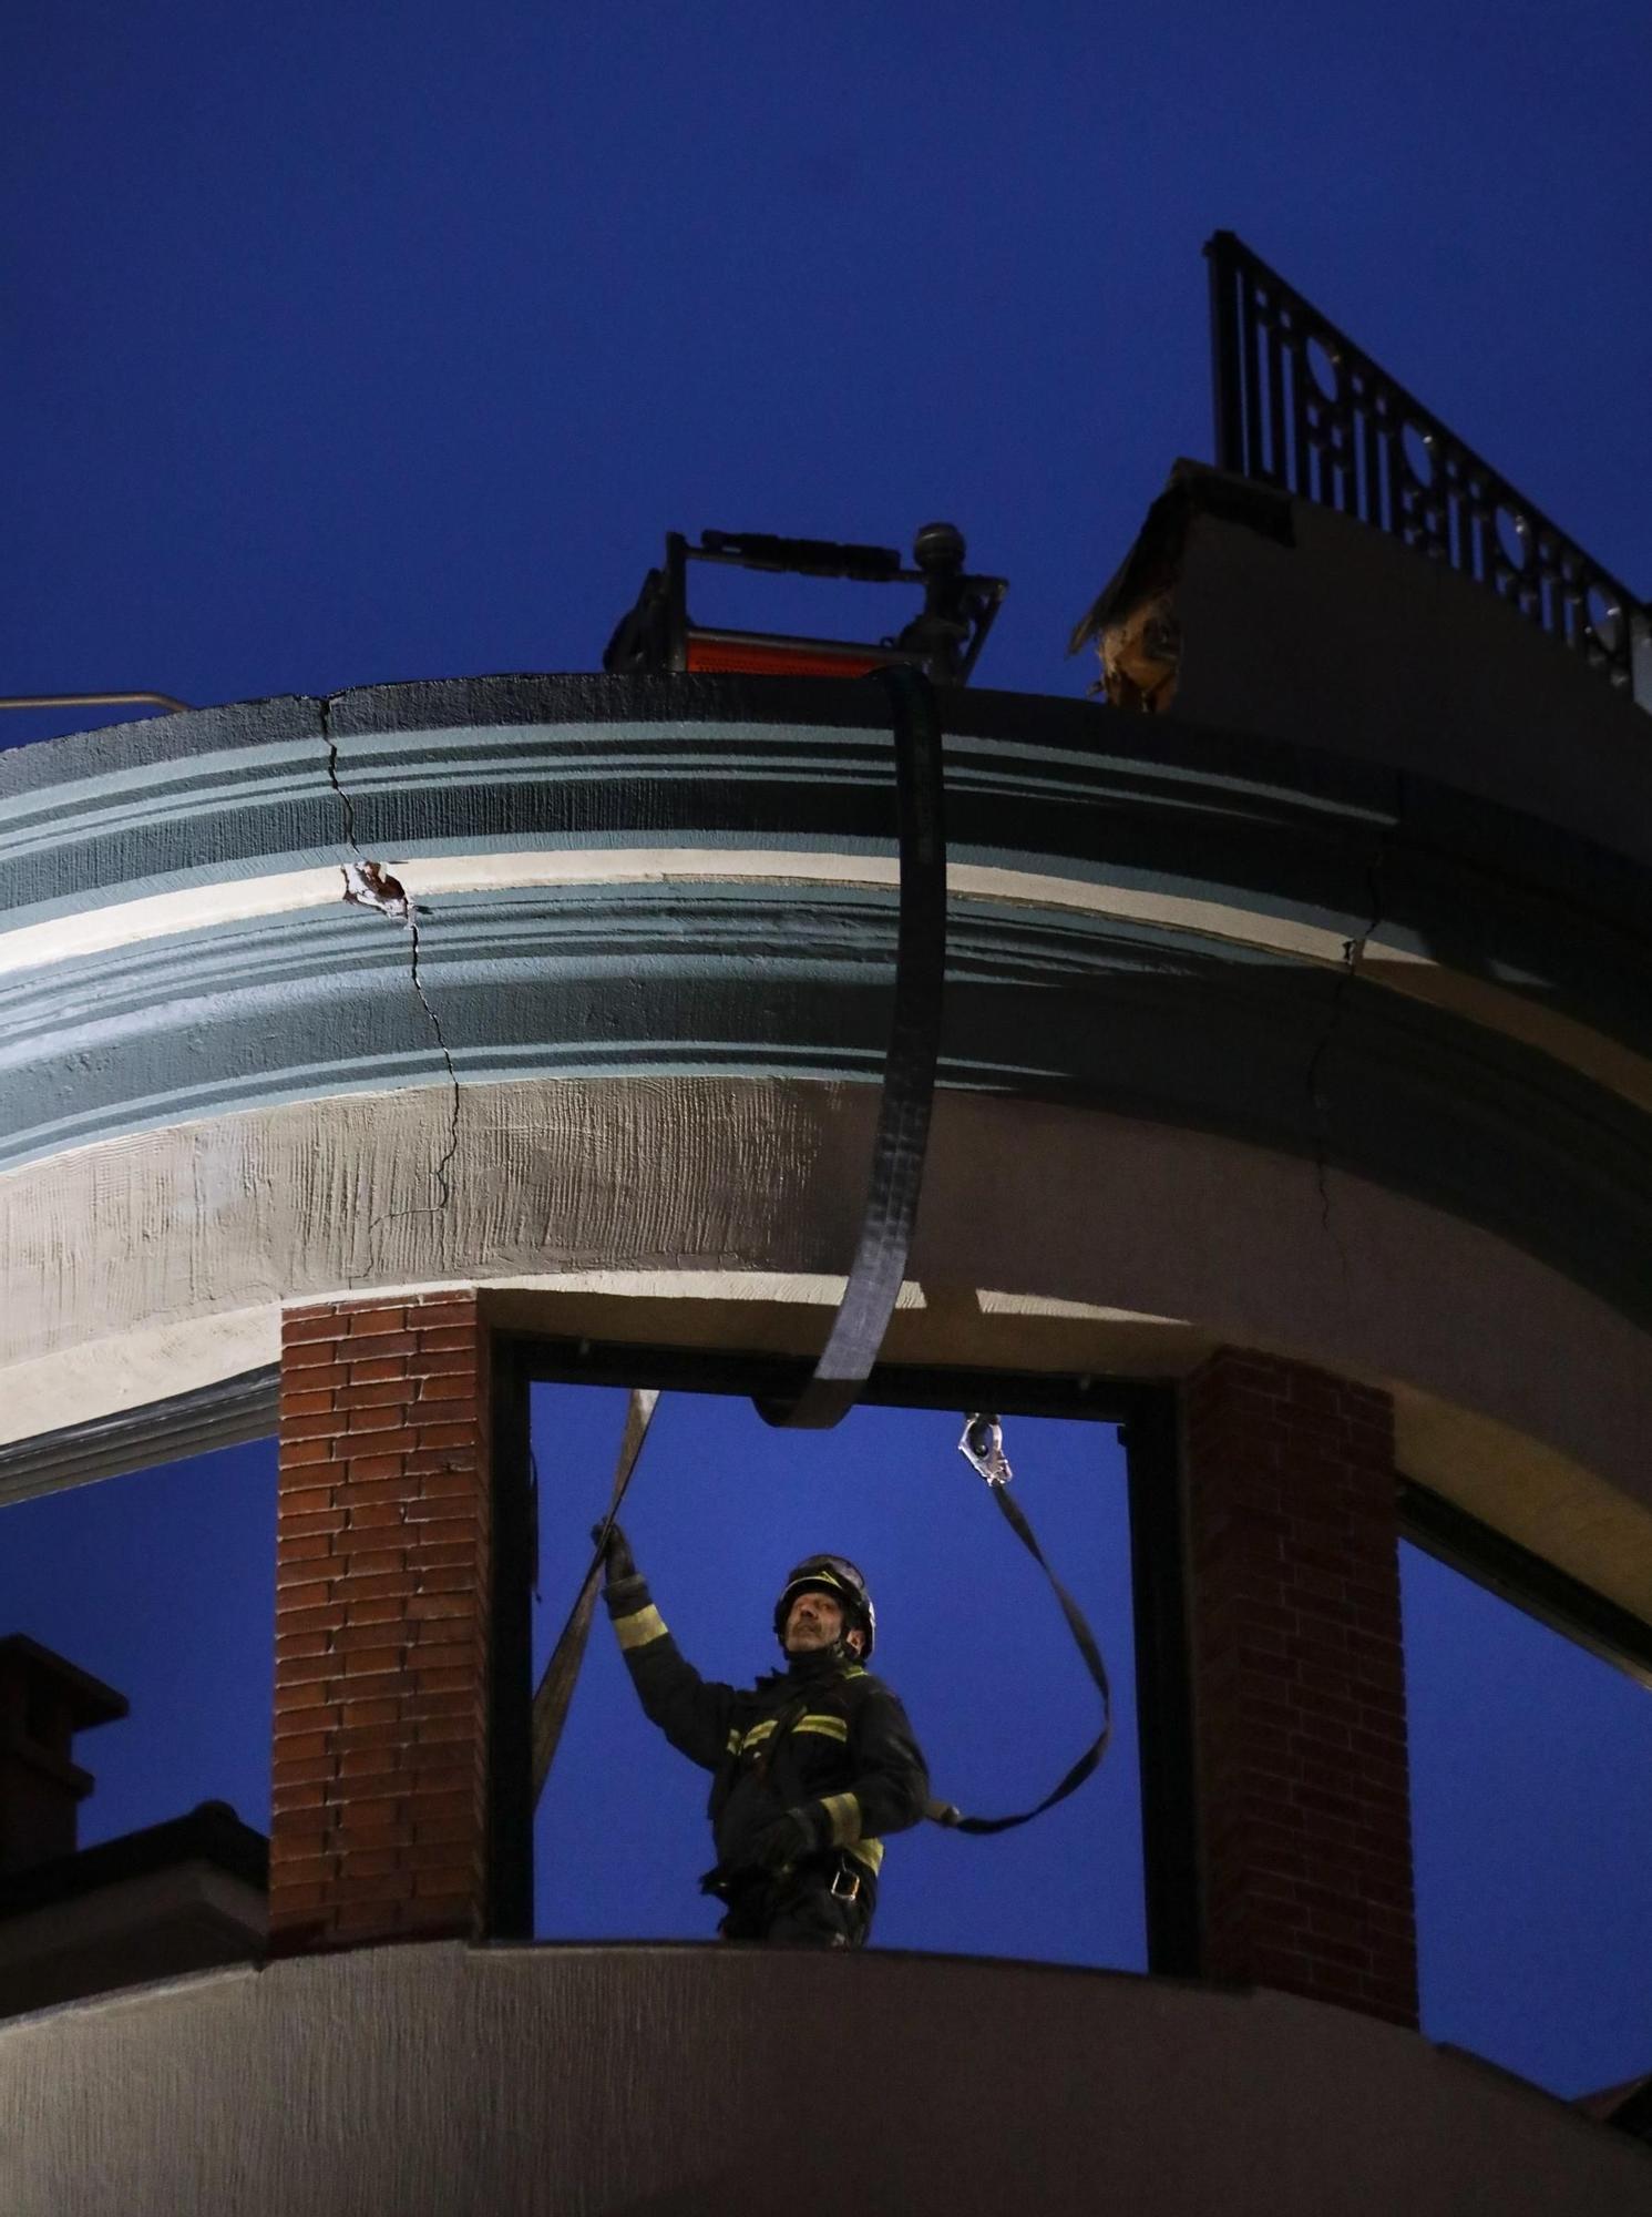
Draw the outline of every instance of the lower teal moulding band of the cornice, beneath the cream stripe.
[[[892,933],[895,898],[875,891],[436,902],[421,980],[463,1084],[873,1082]],[[0,1000],[0,1166],[237,1108],[445,1084],[407,958],[401,927],[341,907],[84,958],[64,964],[58,995],[18,987]],[[1335,971],[963,905],[941,1075],[1324,1153],[1515,1239],[1630,1315],[1652,1308],[1650,1120]]]

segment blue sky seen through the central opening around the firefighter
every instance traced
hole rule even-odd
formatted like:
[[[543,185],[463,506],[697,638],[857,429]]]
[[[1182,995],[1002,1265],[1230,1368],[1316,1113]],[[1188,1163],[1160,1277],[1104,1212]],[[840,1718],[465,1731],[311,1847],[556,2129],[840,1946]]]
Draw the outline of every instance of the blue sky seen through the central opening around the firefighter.
[[[624,1426],[618,1386],[536,1386],[540,1590],[534,1674],[567,1616],[607,1508]],[[906,1703],[935,1794],[997,1816],[1039,1800],[1096,1734],[1096,1689],[1036,1563],[959,1457],[959,1408],[859,1406],[830,1432],[779,1432],[748,1399],[673,1392],[622,1512],[638,1567],[706,1678],[751,1685],[779,1661],[786,1570],[850,1556],[877,1612],[875,1669]],[[1132,1556],[1114,1426],[1005,1414],[1023,1508],[1090,1616],[1114,1692],[1101,1771],[990,1840],[919,1825],[888,1845],[873,1947],[1143,1969]],[[534,1929],[556,1940],[713,1935],[709,1774],[642,1709],[605,1621],[536,1818]]]

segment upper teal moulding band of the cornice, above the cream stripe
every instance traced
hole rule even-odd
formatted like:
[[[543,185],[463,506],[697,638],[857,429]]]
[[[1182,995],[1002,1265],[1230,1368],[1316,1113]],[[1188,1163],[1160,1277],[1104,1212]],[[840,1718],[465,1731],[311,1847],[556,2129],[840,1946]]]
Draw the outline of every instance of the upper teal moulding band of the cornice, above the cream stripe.
[[[359,840],[381,858],[512,849],[598,854],[636,842],[892,851],[884,807],[888,758],[881,734],[866,723],[793,727],[751,718],[569,716],[562,723],[339,729],[359,709],[405,714],[414,703],[450,698],[582,703],[593,692],[600,687],[591,681],[472,681],[334,703],[330,721]],[[1400,949],[1499,978],[1612,1038],[1632,1040],[1643,1029],[1639,1011],[1652,1002],[1648,953],[1636,944],[1639,933],[1632,931],[1628,947],[1621,940],[1621,911],[1636,887],[1592,867],[1588,898],[1579,900],[1574,854],[1548,898],[1541,876],[1535,887],[1510,885],[1510,825],[1495,823],[1495,809],[1477,805],[1470,818],[1481,836],[1504,840],[1488,880],[1450,856],[1442,862],[1428,845],[1406,845],[1404,827],[1388,823],[1400,807],[1400,780],[1360,774],[1357,765],[1326,765],[1302,749],[1247,740],[1218,749],[1207,736],[1167,729],[1163,721],[1072,703],[974,696],[959,709],[994,723],[992,732],[948,738],[959,860],[1231,902],[1346,938],[1357,938],[1380,905],[1384,938]],[[179,754],[186,769],[210,772],[210,789],[190,807],[153,789],[153,780],[177,774],[179,763],[106,767],[122,805],[84,816],[69,805],[78,789],[71,780],[53,796],[49,825],[35,825],[29,838],[13,834],[16,867],[0,867],[4,920],[51,922],[117,900],[345,860],[343,805],[326,780],[321,712],[314,703],[272,703],[270,714],[277,712],[308,716],[308,729],[279,743],[224,747],[215,734],[230,712],[171,718],[171,725],[188,723],[215,738]],[[1047,727],[1061,743],[1010,736],[1019,723]],[[153,752],[159,745],[155,729],[153,723],[122,727],[104,740],[142,743]],[[133,740],[133,732],[142,740]],[[1127,758],[1121,738],[1138,745],[1140,756]],[[49,747],[66,747],[78,763],[89,758],[84,740]],[[102,756],[91,749],[95,758],[106,754],[109,745]],[[372,776],[363,774],[368,763]],[[1282,763],[1295,767],[1295,789],[1280,778]],[[1424,809],[1426,796],[1419,796],[1419,780],[1411,780],[1408,814]],[[1453,836],[1466,836],[1457,820]],[[1563,840],[1557,847],[1543,836],[1543,869],[1555,865],[1559,849]],[[1537,869],[1530,842],[1519,860]],[[1601,913],[1608,880],[1619,905],[1610,916]],[[1566,902],[1563,913],[1557,900]],[[1632,911],[1630,922],[1639,916]],[[1643,920],[1652,938],[1652,911]]]

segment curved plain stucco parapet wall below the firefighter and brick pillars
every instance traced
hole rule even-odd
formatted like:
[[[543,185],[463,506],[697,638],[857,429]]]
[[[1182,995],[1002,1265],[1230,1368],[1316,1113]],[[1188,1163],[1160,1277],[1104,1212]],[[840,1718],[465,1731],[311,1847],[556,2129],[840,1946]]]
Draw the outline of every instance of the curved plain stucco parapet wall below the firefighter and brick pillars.
[[[963,1958],[401,1947],[0,2029],[9,2217],[1636,2217],[1652,2155],[1287,1995]]]

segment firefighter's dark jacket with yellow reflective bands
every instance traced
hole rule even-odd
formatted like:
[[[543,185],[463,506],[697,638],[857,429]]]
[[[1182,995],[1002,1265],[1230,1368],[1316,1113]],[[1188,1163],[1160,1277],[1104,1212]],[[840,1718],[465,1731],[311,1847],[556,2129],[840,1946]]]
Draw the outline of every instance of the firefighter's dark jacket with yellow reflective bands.
[[[930,1794],[906,1709],[881,1678],[804,1656],[742,1692],[684,1661],[642,1579],[609,1585],[607,1605],[642,1707],[680,1754],[713,1771],[711,1829],[724,1869],[746,1867],[757,1833],[802,1809],[822,1845],[877,1873],[884,1833],[917,1825]]]

